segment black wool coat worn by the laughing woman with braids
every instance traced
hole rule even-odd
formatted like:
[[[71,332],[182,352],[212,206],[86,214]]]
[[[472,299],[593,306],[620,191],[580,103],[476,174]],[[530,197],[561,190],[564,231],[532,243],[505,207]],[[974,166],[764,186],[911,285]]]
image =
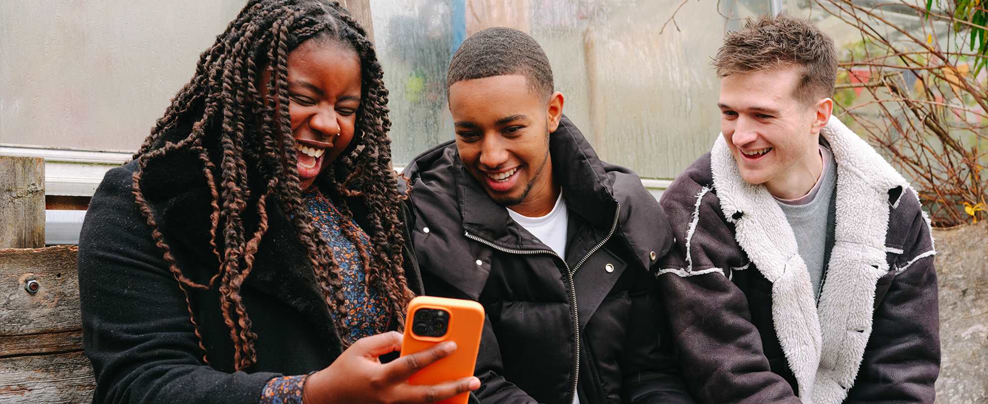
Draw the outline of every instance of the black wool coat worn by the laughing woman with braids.
[[[241,289],[257,334],[257,363],[233,371],[233,344],[219,292],[190,289],[189,305],[206,345],[202,361],[186,298],[134,202],[136,162],[107,173],[86,213],[79,240],[83,348],[97,381],[95,403],[257,403],[269,379],[304,374],[342,352],[337,331],[288,214],[268,203],[269,229]],[[209,247],[209,192],[191,152],[152,160],[141,189],[183,274],[206,283],[217,271]],[[366,230],[365,207],[349,200]],[[251,201],[247,212],[256,212]],[[255,227],[256,213],[245,219]],[[406,240],[411,237],[406,235]],[[410,244],[403,251],[409,286],[421,293]],[[392,323],[388,329],[394,329]]]

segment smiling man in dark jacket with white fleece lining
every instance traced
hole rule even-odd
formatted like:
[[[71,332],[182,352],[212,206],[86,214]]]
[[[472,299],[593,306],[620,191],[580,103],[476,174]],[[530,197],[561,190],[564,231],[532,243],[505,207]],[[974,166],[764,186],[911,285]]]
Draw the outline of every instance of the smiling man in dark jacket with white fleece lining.
[[[665,192],[657,279],[709,403],[932,403],[934,242],[915,192],[832,117],[833,41],[781,16],[728,34],[721,135]]]

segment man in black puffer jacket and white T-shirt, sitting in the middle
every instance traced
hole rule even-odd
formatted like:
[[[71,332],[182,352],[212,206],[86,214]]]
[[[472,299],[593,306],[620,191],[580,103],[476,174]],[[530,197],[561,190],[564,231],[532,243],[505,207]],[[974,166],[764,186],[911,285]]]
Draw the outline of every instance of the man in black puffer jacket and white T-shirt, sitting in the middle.
[[[680,403],[663,335],[658,202],[601,161],[563,112],[538,43],[494,28],[447,79],[455,138],[409,164],[427,294],[486,310],[474,393],[484,403]]]

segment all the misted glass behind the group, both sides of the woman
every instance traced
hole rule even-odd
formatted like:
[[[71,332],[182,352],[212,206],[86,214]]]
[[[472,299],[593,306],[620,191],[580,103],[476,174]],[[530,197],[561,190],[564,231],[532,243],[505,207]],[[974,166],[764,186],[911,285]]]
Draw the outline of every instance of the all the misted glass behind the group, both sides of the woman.
[[[46,4],[0,2],[0,143],[134,150],[244,2]],[[542,44],[565,113],[604,159],[674,178],[717,134],[709,60],[722,35],[769,11],[768,0],[372,1],[395,165],[453,139],[446,70],[459,43],[510,26]]]

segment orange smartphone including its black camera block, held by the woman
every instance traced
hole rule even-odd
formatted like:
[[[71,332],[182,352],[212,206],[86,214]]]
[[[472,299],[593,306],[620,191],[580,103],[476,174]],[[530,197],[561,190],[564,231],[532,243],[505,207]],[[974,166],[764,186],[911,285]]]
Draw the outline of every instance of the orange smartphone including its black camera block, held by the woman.
[[[448,357],[424,366],[408,378],[409,384],[430,385],[473,375],[484,327],[484,308],[472,300],[418,296],[408,303],[401,361],[451,342],[456,350]],[[465,404],[468,392],[439,401]]]

